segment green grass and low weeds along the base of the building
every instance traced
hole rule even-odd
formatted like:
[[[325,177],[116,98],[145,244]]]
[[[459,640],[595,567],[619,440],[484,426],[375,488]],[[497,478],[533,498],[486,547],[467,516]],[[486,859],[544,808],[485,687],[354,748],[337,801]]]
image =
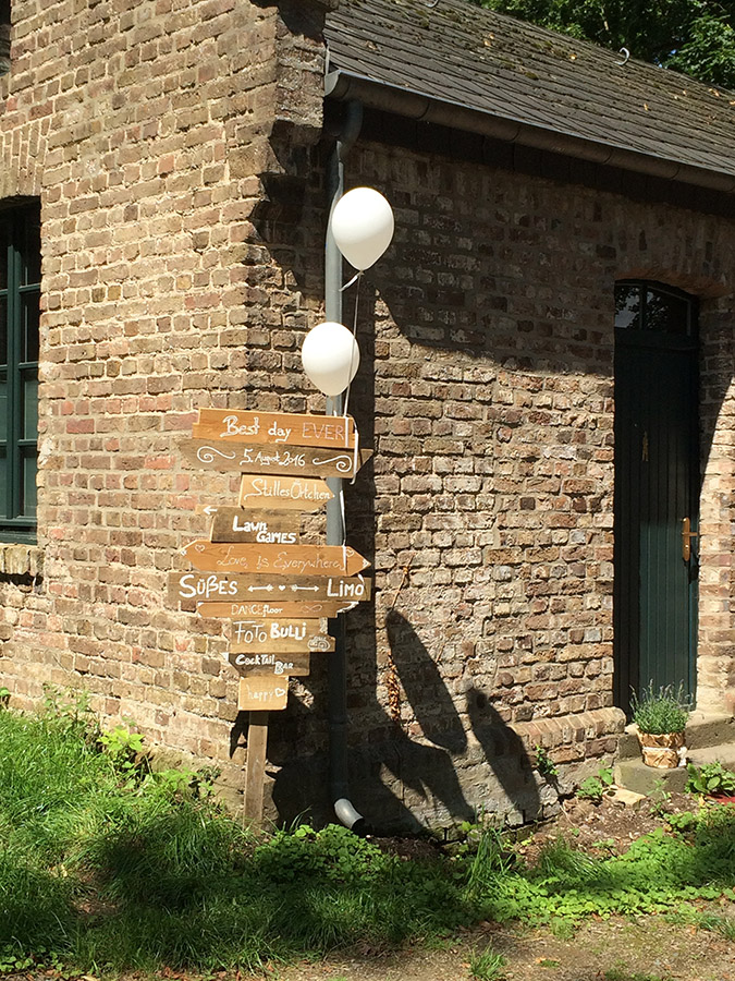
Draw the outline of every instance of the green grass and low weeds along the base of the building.
[[[733,897],[735,809],[622,856],[559,839],[528,868],[488,828],[454,857],[405,861],[333,825],[256,841],[194,775],[156,777],[124,732],[99,737],[84,714],[0,712],[0,973],[255,969],[354,944],[431,944],[481,920],[565,935],[590,915]],[[731,921],[699,920],[732,936]],[[501,977],[486,953],[475,977]]]

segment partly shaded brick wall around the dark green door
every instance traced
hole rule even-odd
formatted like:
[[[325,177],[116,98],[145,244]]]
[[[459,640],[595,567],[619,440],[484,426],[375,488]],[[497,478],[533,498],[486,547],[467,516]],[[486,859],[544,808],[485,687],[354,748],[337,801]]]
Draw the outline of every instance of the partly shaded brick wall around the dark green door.
[[[350,618],[355,801],[396,824],[480,804],[520,820],[550,804],[534,747],[568,788],[610,759],[623,725],[612,694],[618,279],[700,298],[698,704],[732,708],[735,239],[715,216],[369,141],[347,172],[396,215],[394,244],[362,288],[351,396],[376,453],[348,526],[378,586],[375,609]],[[277,783],[298,783],[289,747],[317,743],[318,718],[294,715],[275,736]]]

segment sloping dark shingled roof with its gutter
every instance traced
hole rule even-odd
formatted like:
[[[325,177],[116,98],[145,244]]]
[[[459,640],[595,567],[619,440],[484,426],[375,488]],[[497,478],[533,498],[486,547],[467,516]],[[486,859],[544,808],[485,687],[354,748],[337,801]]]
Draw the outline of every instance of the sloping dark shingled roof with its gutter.
[[[341,0],[324,35],[333,97],[735,191],[735,93],[467,0]]]

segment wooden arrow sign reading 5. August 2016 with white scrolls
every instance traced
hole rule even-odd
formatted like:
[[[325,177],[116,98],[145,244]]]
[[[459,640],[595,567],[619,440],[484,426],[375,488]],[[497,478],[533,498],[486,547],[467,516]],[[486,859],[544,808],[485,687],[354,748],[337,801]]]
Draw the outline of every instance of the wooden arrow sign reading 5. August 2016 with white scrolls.
[[[245,443],[180,439],[179,448],[189,463],[207,470],[240,470],[242,473],[281,473],[286,476],[352,477],[372,456],[372,450],[323,449],[308,446],[256,446]]]

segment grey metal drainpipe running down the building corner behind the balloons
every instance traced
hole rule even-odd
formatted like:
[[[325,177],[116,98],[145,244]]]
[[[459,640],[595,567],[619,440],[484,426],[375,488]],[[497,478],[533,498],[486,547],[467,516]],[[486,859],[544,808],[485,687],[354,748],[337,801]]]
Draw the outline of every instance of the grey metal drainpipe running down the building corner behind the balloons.
[[[331,210],[344,193],[344,160],[354,146],[363,125],[363,105],[347,102],[342,132],[329,159],[328,194]],[[324,313],[328,320],[342,323],[342,254],[331,232],[327,230],[324,252]],[[327,399],[327,412],[341,415],[344,396]],[[327,505],[327,544],[344,542],[344,518],[341,496],[343,481],[330,477],[327,483],[334,495]],[[329,787],[339,821],[357,834],[367,833],[365,818],[350,800],[347,776],[347,651],[344,614],[338,617],[334,630],[334,652],[329,664]]]

